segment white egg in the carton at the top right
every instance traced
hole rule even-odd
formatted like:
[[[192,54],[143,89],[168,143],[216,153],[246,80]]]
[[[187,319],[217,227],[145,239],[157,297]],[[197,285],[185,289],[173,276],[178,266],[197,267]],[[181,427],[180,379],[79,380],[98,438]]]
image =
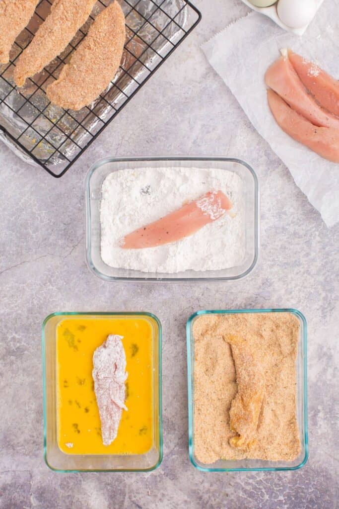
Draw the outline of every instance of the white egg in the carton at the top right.
[[[317,12],[316,0],[279,0],[278,16],[285,25],[300,29],[312,21]]]

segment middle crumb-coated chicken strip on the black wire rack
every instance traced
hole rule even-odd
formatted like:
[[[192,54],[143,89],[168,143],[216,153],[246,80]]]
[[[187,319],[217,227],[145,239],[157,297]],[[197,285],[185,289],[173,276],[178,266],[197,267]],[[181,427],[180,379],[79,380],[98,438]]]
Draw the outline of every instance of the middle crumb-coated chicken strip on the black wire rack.
[[[33,41],[21,53],[14,80],[22,87],[60,54],[87,20],[96,0],[55,0]]]

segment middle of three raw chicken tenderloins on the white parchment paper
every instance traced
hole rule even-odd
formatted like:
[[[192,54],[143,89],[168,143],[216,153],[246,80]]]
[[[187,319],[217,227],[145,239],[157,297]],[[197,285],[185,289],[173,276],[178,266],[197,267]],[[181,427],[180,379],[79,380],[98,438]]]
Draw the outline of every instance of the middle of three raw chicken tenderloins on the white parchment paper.
[[[312,124],[339,129],[339,118],[323,110],[307,94],[287,55],[281,56],[267,69],[265,83]]]

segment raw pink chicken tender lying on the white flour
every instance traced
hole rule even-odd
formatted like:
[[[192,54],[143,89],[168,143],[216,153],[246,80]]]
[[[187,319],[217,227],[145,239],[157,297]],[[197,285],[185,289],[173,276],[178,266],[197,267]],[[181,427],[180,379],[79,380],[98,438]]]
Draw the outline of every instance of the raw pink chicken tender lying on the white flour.
[[[122,240],[121,247],[141,249],[176,242],[219,219],[231,208],[231,202],[222,191],[209,191],[194,202],[130,233]]]

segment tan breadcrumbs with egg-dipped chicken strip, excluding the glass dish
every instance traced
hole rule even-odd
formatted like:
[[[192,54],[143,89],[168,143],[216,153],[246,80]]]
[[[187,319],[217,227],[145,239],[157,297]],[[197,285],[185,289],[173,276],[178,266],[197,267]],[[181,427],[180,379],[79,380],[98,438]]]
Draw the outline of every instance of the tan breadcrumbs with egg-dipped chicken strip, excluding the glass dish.
[[[194,452],[199,461],[298,457],[299,327],[292,313],[195,320]]]

